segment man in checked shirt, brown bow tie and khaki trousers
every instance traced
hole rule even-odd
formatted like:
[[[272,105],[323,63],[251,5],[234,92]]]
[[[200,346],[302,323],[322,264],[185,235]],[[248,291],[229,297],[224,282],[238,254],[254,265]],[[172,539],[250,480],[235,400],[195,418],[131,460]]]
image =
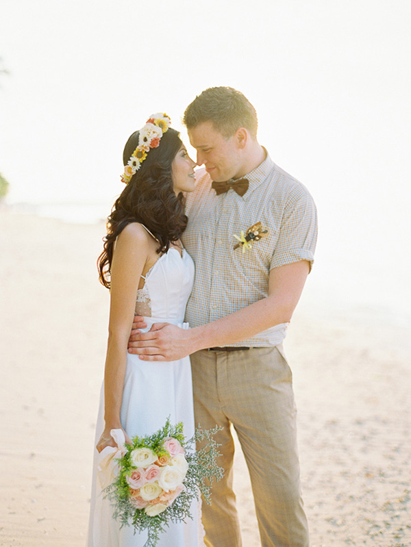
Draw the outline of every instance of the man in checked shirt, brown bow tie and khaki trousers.
[[[197,186],[183,243],[195,261],[186,320],[132,335],[130,353],[191,355],[195,420],[216,424],[225,469],[203,504],[208,547],[242,545],[232,490],[233,424],[247,461],[263,547],[308,547],[299,483],[292,374],[282,341],[310,271],[316,209],[306,188],[257,141],[256,111],[232,88],[187,107]],[[138,323],[135,324],[136,328]]]

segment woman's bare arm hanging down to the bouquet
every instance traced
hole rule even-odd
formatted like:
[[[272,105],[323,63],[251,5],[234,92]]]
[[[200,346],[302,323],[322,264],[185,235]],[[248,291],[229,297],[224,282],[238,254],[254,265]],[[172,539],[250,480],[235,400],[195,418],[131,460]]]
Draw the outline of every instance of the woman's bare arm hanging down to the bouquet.
[[[99,452],[105,446],[115,446],[111,429],[123,429],[120,410],[127,341],[132,329],[138,282],[148,253],[145,229],[136,222],[127,225],[117,238],[111,265],[110,319],[104,372],[105,428],[97,443]]]

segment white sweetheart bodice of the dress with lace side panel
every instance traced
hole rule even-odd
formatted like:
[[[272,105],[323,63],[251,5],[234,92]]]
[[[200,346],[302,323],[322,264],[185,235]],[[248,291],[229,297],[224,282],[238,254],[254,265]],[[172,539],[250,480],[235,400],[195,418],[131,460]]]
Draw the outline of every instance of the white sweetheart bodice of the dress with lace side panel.
[[[183,249],[169,249],[145,275],[138,289],[135,314],[145,317],[183,321],[188,296],[194,282],[194,263]]]

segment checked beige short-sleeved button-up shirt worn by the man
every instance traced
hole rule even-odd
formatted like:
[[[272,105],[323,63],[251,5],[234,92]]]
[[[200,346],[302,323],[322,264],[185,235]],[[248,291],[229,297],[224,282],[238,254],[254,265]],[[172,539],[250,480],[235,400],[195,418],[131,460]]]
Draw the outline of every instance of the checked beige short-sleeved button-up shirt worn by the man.
[[[249,189],[216,195],[205,169],[197,171],[187,196],[188,225],[182,241],[195,262],[195,284],[186,308],[190,327],[232,314],[268,296],[271,268],[300,260],[312,264],[316,207],[308,190],[277,167],[269,155],[245,175]],[[242,253],[234,234],[260,221],[268,234]],[[232,346],[275,346],[286,324],[276,325]]]

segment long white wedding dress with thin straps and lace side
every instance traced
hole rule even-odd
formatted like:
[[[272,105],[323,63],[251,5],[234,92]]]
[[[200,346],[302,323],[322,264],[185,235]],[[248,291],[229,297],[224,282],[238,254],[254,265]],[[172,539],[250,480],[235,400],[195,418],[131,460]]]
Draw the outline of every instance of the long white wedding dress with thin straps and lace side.
[[[147,330],[155,322],[184,324],[184,313],[194,281],[194,264],[184,250],[169,249],[147,272],[145,285],[138,290],[136,315],[145,316]],[[97,418],[96,443],[103,431],[103,388]],[[142,361],[138,355],[127,354],[121,424],[129,437],[158,431],[170,416],[171,424],[184,423],[184,435],[192,437],[195,429],[192,409],[192,382],[189,357],[179,361]],[[142,547],[147,531],[136,533],[132,526],[123,526],[112,518],[108,499],[103,499],[96,465],[92,475],[92,495],[88,547]],[[157,547],[203,547],[203,527],[197,501],[192,505],[192,520],[171,523],[160,535]]]

